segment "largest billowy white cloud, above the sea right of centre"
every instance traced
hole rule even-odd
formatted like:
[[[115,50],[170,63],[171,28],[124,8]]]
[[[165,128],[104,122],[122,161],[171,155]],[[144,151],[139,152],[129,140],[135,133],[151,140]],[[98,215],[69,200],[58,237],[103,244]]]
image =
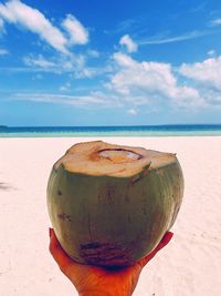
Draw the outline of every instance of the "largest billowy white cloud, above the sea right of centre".
[[[109,88],[125,96],[169,99],[177,105],[201,105],[203,100],[196,89],[178,85],[168,63],[138,62],[127,54],[117,52],[113,55],[118,65],[112,76]],[[145,100],[144,100],[145,102]]]

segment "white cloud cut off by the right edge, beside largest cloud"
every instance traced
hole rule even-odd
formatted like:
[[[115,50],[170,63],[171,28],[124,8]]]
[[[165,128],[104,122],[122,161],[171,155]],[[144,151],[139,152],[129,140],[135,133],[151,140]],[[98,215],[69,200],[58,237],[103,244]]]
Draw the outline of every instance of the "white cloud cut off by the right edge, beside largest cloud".
[[[185,76],[203,83],[203,88],[210,86],[221,91],[221,55],[198,63],[183,63],[179,72]]]

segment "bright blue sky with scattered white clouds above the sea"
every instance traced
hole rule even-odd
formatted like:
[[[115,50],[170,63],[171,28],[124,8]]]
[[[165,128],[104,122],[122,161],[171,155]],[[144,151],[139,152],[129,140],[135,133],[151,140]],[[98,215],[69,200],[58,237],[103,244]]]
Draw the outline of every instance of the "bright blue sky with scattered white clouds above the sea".
[[[0,125],[221,123],[221,1],[0,0]]]

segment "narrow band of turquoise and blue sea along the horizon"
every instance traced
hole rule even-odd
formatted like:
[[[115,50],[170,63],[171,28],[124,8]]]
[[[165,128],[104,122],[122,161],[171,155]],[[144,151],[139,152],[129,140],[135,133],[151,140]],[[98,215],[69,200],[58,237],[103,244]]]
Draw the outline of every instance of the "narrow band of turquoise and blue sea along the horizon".
[[[0,137],[219,136],[221,124],[135,126],[4,126]]]

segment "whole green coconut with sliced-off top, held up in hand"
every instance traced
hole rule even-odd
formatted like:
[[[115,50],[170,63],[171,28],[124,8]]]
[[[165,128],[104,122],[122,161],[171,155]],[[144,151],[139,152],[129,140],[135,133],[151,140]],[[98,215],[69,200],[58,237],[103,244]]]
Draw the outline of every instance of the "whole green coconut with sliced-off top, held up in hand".
[[[95,141],[73,145],[53,165],[48,208],[70,257],[128,266],[171,228],[182,195],[175,154]]]

